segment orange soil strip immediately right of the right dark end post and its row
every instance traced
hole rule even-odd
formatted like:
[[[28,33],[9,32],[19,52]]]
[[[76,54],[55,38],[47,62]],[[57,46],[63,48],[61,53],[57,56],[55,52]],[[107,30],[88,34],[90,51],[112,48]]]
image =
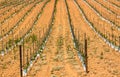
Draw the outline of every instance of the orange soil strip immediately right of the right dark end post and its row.
[[[107,46],[98,35],[92,31],[89,25],[84,21],[78,8],[73,1],[67,1],[72,17],[73,25],[80,31],[80,34],[87,34],[90,38],[88,43],[88,70],[89,73],[80,77],[119,77],[120,76],[120,56],[119,52],[115,52]],[[82,6],[82,5],[81,5]],[[103,53],[103,55],[101,55]],[[112,68],[111,68],[112,67]]]

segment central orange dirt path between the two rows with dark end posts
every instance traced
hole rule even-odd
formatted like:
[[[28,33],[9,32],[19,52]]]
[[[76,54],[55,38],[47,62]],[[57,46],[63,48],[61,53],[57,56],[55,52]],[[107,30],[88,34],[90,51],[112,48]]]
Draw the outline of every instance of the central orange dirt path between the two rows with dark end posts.
[[[74,49],[64,0],[59,0],[52,33],[28,77],[78,77],[83,71]]]

